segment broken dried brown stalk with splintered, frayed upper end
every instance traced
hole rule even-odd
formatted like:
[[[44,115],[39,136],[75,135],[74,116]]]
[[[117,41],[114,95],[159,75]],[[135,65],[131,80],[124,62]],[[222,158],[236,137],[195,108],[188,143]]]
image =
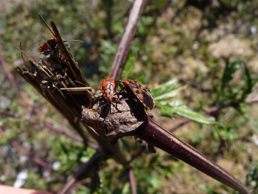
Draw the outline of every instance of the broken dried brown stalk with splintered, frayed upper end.
[[[41,59],[29,57],[23,51],[31,68],[24,66],[16,67],[21,76],[37,89],[59,112],[67,118],[72,126],[77,130],[83,138],[85,145],[87,144],[87,136],[80,125],[82,106],[91,107],[96,102],[96,91],[89,87],[89,84],[80,71],[74,57],[63,43],[60,33],[53,21],[51,26],[58,40],[58,55],[49,59]],[[78,88],[87,86],[84,93],[70,94],[67,90],[60,88]],[[125,155],[119,145],[112,146],[109,144],[110,138],[103,133],[96,133],[87,125],[85,125],[88,133],[100,144],[106,158],[114,158],[117,162],[126,164]]]

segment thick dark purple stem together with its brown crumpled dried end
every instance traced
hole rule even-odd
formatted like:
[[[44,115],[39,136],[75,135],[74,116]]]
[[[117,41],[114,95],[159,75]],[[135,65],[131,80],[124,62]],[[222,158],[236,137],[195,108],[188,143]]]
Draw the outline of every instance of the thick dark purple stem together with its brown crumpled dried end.
[[[100,102],[98,102],[93,109],[85,108],[82,111],[83,122],[96,131],[104,129],[103,132],[107,136],[115,139],[136,136],[231,188],[243,194],[248,193],[246,187],[228,171],[153,121],[149,114],[144,112],[143,107],[139,108],[131,95],[128,93],[125,93],[124,96],[116,95],[117,99],[128,98],[126,101],[120,101],[117,106],[111,104],[96,110],[100,106]]]

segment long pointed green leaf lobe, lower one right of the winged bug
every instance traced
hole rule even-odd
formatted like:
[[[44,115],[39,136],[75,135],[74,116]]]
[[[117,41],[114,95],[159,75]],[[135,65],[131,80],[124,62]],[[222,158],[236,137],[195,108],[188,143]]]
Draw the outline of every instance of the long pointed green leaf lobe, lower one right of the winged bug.
[[[215,124],[220,125],[217,122],[209,120],[209,118],[205,117],[204,115],[191,110],[190,108],[185,106],[181,100],[174,100],[171,102],[158,101],[157,103],[155,103],[155,105],[161,108],[162,116],[171,117],[172,114],[176,114],[179,116],[189,118],[198,123],[209,124],[209,125],[215,125]]]

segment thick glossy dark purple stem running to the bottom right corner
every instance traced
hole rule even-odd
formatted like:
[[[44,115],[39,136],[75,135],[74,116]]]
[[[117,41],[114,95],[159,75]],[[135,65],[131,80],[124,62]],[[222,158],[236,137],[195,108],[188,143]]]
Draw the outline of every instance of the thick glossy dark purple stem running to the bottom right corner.
[[[164,150],[236,191],[248,194],[245,185],[228,171],[153,121],[149,114],[147,116],[146,127],[140,128],[139,131],[133,134],[134,136]]]

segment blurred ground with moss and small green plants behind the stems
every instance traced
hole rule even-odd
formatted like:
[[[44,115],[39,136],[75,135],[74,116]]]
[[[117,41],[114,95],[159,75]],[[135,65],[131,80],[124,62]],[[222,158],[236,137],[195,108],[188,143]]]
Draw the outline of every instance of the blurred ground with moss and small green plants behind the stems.
[[[112,60],[133,1],[0,1],[0,49],[8,68],[0,66],[0,183],[14,185],[22,172],[23,188],[57,192],[61,186],[95,153],[95,149],[54,133],[52,126],[75,133],[66,120],[18,74],[23,66],[20,47],[39,59],[39,46],[53,35],[38,17],[57,25],[91,86],[99,89],[108,77]],[[253,79],[258,73],[258,2],[243,0],[162,1],[150,0],[140,18],[127,61],[126,78],[153,88],[178,79],[186,89],[178,93],[189,108],[196,111],[230,103],[243,93],[246,72]],[[223,95],[225,67],[243,62],[229,74]],[[25,57],[25,61],[27,61]],[[128,63],[129,63],[128,62]],[[10,81],[11,71],[17,85]],[[245,99],[257,99],[257,84]],[[27,96],[28,101],[24,97]],[[39,112],[34,110],[36,107]],[[197,150],[227,169],[248,188],[257,188],[258,106],[242,104],[210,115],[225,128],[190,122],[174,133]],[[156,121],[171,129],[184,121],[179,116],[159,116]],[[12,113],[12,115],[10,114]],[[9,115],[8,115],[9,114]],[[36,123],[35,123],[36,122]],[[4,135],[3,135],[4,134]],[[76,134],[77,135],[77,134]],[[125,153],[139,149],[130,137],[119,139]],[[16,145],[16,146],[15,146]],[[17,148],[21,146],[21,149]],[[21,150],[41,159],[43,168]],[[233,193],[229,187],[157,149],[132,162],[138,193]],[[109,159],[99,167],[99,181],[93,172],[70,193],[131,193],[128,171]],[[247,175],[249,175],[247,177]],[[96,186],[97,185],[97,186]]]

